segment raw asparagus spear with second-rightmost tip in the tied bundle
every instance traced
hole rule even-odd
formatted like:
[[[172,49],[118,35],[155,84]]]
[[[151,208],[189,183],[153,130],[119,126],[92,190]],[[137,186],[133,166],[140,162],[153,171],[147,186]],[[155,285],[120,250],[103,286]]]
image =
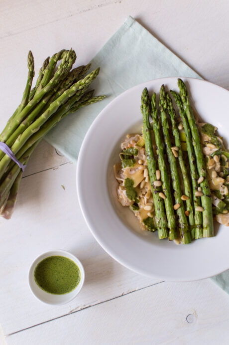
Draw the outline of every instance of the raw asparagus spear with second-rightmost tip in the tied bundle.
[[[73,84],[68,90],[65,90],[64,93],[54,102],[50,104],[48,109],[40,115],[30,126],[28,126],[25,131],[17,137],[14,144],[11,147],[11,151],[16,154],[19,149],[24,145],[28,138],[38,131],[40,127],[48,120],[48,118],[57,111],[57,109],[67,101],[70,97],[74,96],[77,90],[81,90],[91,84],[99,73],[99,68],[92,71],[84,79],[79,80],[77,83]],[[42,89],[43,90],[43,89]],[[10,162],[10,158],[7,155],[4,155],[0,161],[0,178],[3,175],[5,169],[7,168]]]

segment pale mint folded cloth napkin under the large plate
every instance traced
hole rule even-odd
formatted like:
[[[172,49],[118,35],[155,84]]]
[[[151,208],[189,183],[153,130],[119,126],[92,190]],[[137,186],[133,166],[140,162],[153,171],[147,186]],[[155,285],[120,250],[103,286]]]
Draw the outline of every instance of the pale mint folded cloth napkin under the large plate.
[[[74,163],[93,120],[120,93],[161,77],[201,78],[130,16],[91,62],[92,69],[101,67],[93,83],[96,94],[106,94],[107,98],[68,115],[45,137]],[[229,293],[229,271],[212,279]]]

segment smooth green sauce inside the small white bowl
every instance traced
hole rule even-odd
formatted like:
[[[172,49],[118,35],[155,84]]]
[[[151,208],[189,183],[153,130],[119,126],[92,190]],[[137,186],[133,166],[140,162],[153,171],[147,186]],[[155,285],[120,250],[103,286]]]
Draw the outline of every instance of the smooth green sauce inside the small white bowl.
[[[64,256],[49,256],[34,270],[36,284],[44,291],[63,295],[73,291],[80,282],[80,270],[74,261]]]

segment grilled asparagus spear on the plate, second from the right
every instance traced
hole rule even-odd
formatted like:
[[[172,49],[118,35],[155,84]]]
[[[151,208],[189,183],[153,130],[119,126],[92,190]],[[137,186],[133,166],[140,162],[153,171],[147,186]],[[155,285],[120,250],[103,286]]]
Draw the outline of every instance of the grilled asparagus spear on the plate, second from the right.
[[[195,212],[195,238],[202,238],[203,237],[203,220],[202,220],[202,214],[199,211],[196,211],[196,207],[201,206],[201,200],[200,197],[196,196],[195,193],[198,191],[198,172],[197,172],[197,166],[196,166],[196,157],[193,147],[193,141],[192,141],[192,134],[189,128],[189,123],[182,105],[182,101],[180,98],[180,95],[177,94],[175,91],[170,91],[175,99],[176,105],[179,109],[179,114],[182,119],[184,132],[186,136],[186,144],[187,144],[187,152],[188,152],[188,158],[189,158],[189,166],[190,166],[190,173],[191,173],[191,179],[192,179],[192,187],[193,187],[193,202],[194,202],[194,212]]]

